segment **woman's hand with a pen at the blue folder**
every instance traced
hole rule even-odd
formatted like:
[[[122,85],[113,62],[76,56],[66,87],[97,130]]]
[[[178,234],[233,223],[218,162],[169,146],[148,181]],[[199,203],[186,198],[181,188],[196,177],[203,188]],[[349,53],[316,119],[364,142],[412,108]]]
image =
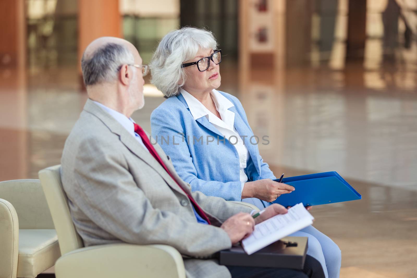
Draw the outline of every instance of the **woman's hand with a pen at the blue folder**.
[[[285,183],[278,183],[269,178],[249,181],[245,183],[242,191],[242,199],[258,198],[266,202],[273,202],[279,195],[291,193],[294,187]]]

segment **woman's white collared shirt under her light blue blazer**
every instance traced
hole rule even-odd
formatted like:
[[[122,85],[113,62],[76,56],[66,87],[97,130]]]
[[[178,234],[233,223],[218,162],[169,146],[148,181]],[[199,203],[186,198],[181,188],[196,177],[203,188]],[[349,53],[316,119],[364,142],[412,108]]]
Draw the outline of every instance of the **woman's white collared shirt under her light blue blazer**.
[[[184,97],[194,120],[206,116],[208,121],[211,124],[213,124],[227,140],[229,140],[231,136],[235,136],[230,138],[229,142],[231,144],[234,144],[239,155],[239,174],[241,182],[241,191],[243,191],[243,187],[245,183],[248,181],[248,176],[245,173],[245,168],[246,163],[249,160],[249,151],[248,148],[246,148],[246,146],[244,145],[244,142],[242,138],[239,136],[239,133],[237,132],[236,128],[234,128],[234,112],[228,110],[229,108],[234,106],[234,104],[231,103],[230,100],[224,97],[224,95],[219,93],[217,90],[212,90],[210,92],[211,98],[214,101],[214,105],[216,105],[216,110],[219,111],[219,114],[221,116],[220,119],[219,117],[211,113],[210,110],[208,110],[198,99],[194,98],[193,95],[188,93],[183,88],[180,88],[180,93]]]

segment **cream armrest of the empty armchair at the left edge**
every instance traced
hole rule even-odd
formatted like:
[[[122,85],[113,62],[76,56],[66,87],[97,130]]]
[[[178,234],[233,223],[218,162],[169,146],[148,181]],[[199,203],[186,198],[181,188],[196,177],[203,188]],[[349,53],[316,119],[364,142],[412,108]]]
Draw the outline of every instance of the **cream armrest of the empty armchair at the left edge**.
[[[15,278],[18,271],[19,221],[15,208],[0,199],[0,277]]]

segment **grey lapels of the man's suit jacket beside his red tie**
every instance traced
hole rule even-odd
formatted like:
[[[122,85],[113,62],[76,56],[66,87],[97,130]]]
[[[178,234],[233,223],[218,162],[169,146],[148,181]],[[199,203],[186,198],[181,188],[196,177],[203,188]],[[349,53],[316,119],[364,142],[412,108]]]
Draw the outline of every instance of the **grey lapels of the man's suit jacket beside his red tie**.
[[[119,138],[121,142],[123,143],[123,145],[125,145],[129,150],[131,150],[131,152],[134,153],[138,158],[145,161],[149,166],[154,168],[173,190],[176,190],[177,192],[184,194],[183,190],[179,188],[175,180],[173,180],[170,177],[170,175],[161,166],[161,164],[159,164],[159,162],[153,157],[153,155],[151,155],[151,153],[149,153],[148,150],[146,150],[143,146],[141,146],[138,143],[138,141],[130,133],[128,133],[128,131],[125,128],[123,128],[123,126],[119,124],[111,115],[109,115],[106,111],[104,111],[98,105],[93,103],[93,101],[90,99],[88,99],[87,103],[85,103],[84,110],[86,110],[89,113],[94,114],[111,130],[112,133],[119,135]],[[149,136],[148,133],[146,134]],[[168,159],[166,158],[166,154],[163,153],[163,150],[161,149],[161,147],[159,147],[158,144],[154,145],[153,147],[156,149],[158,155],[161,157],[163,163],[165,163],[168,170],[170,170],[172,175],[175,176],[173,174],[175,173],[175,169],[170,169],[171,167],[169,163],[167,163]],[[178,182],[178,183],[181,184],[181,182]]]

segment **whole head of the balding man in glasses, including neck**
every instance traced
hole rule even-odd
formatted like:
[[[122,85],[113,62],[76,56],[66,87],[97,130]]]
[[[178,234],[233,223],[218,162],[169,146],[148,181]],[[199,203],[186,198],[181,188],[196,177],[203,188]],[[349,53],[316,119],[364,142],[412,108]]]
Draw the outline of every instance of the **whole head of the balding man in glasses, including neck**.
[[[84,50],[81,68],[88,98],[128,118],[145,104],[142,58],[127,40],[94,40]]]

